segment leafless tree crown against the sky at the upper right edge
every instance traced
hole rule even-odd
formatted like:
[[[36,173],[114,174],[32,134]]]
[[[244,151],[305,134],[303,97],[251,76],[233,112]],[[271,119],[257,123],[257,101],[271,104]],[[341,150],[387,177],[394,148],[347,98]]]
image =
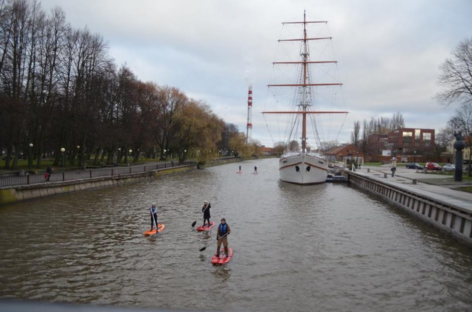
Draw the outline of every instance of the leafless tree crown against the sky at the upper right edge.
[[[436,94],[436,99],[448,106],[453,102],[472,102],[472,38],[465,39],[451,51],[439,69],[439,84],[446,90]]]

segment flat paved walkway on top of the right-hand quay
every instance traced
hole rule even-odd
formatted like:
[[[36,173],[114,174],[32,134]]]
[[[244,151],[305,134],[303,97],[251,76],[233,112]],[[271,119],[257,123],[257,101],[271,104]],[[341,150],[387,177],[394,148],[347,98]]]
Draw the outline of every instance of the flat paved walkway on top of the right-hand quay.
[[[367,172],[370,169],[370,173]],[[397,167],[395,176],[392,177],[390,166],[364,166],[356,170],[357,174],[373,177],[386,183],[397,184],[411,192],[428,196],[431,199],[454,201],[457,206],[469,209],[472,212],[472,193],[456,190],[459,187],[472,186],[472,181],[455,182],[453,176],[443,176],[435,174],[424,174],[423,171]],[[384,178],[387,174],[387,178]],[[417,184],[413,184],[416,179]]]

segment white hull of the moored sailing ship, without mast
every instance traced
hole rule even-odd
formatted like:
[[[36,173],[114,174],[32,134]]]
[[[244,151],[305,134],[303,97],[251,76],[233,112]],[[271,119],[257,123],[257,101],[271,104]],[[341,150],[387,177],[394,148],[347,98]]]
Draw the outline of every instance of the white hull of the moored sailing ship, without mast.
[[[282,156],[279,161],[279,174],[280,180],[293,184],[325,183],[328,163],[323,157],[303,153]]]

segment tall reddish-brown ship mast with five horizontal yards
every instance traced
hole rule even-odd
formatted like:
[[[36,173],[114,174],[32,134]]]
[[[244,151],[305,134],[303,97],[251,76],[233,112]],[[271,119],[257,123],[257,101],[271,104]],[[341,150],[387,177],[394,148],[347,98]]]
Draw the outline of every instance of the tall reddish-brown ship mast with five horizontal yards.
[[[284,39],[284,40],[279,40],[281,41],[303,41],[303,51],[301,53],[301,62],[273,62],[272,64],[302,64],[303,66],[303,79],[301,81],[301,84],[269,84],[268,87],[301,87],[303,88],[303,93],[302,93],[302,100],[298,106],[301,108],[299,111],[265,111],[262,112],[263,114],[301,114],[302,115],[302,153],[306,152],[306,115],[307,114],[327,114],[327,113],[334,113],[334,114],[340,114],[340,113],[347,113],[346,111],[308,111],[307,108],[311,104],[307,102],[306,100],[306,90],[307,87],[311,86],[340,86],[342,83],[307,83],[307,77],[308,77],[308,64],[316,64],[316,63],[337,63],[337,61],[310,61],[309,60],[309,52],[307,48],[307,42],[311,40],[325,40],[329,39],[331,40],[332,37],[321,37],[321,38],[307,38],[306,35],[306,25],[307,24],[312,24],[312,23],[328,23],[327,21],[313,21],[313,22],[308,22],[306,21],[306,12],[303,12],[303,22],[287,22],[287,23],[282,23],[283,25],[285,24],[303,24],[303,38],[301,39]]]

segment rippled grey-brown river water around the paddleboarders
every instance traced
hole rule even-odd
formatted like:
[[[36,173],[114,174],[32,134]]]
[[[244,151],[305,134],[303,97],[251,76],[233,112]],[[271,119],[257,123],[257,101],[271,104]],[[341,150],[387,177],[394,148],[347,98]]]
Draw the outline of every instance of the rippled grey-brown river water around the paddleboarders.
[[[210,263],[216,228],[191,227],[203,223],[204,200],[212,220],[231,227],[234,256],[225,266]],[[144,237],[152,203],[166,227]],[[472,309],[470,247],[345,184],[282,183],[277,159],[3,206],[0,251],[1,298],[245,311]]]

